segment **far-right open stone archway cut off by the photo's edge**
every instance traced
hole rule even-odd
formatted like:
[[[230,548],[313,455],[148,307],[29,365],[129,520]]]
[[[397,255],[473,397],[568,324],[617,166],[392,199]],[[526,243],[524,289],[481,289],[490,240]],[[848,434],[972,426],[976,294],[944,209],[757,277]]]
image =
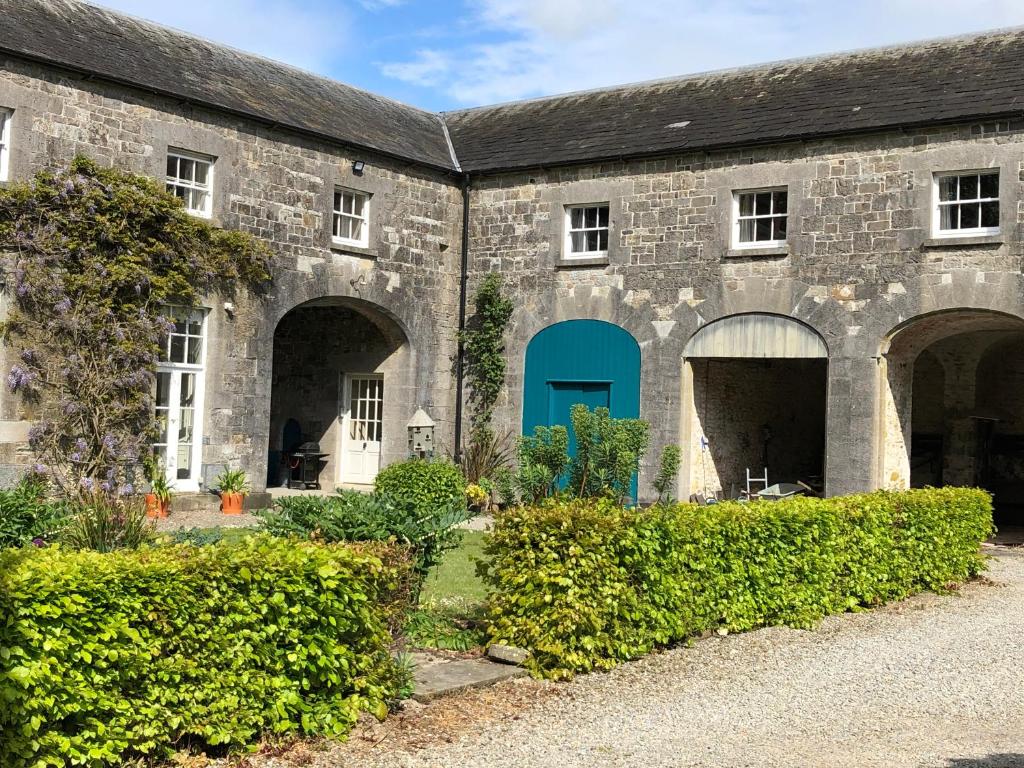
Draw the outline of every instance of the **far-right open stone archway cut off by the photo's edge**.
[[[1024,319],[951,309],[883,345],[883,484],[975,485],[997,521],[1024,522]]]

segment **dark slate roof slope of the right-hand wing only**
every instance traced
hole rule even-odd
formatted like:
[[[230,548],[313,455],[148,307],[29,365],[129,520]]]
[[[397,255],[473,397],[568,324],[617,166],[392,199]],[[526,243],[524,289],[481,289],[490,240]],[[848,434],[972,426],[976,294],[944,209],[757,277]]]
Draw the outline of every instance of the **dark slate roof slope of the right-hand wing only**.
[[[1024,112],[1024,30],[445,115],[463,168],[777,143]]]

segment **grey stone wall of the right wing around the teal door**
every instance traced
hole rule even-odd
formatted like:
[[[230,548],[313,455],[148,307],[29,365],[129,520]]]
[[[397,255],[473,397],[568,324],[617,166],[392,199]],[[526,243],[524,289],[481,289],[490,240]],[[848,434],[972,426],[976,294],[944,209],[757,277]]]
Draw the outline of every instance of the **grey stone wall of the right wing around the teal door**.
[[[523,356],[537,331],[580,317],[618,324],[642,350],[649,498],[654,459],[680,439],[692,408],[680,384],[686,341],[711,321],[772,312],[803,321],[828,346],[828,493],[883,484],[880,371],[894,330],[954,308],[1024,314],[1021,128],[907,130],[478,179],[471,285],[500,271],[518,307],[499,422],[515,431],[521,420]],[[933,174],[989,167],[1000,169],[1000,234],[933,240]],[[732,193],[767,186],[788,188],[785,247],[737,251]],[[608,260],[573,267],[555,256],[564,206],[597,201],[610,204]]]

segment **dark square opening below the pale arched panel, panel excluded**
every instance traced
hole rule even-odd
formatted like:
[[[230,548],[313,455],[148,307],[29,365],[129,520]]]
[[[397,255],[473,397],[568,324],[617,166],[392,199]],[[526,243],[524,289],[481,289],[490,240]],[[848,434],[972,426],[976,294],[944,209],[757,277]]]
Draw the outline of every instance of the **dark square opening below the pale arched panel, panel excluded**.
[[[746,469],[768,482],[821,488],[828,362],[822,358],[696,358],[693,404],[707,440],[697,486],[736,498]],[[757,489],[761,489],[758,485]]]

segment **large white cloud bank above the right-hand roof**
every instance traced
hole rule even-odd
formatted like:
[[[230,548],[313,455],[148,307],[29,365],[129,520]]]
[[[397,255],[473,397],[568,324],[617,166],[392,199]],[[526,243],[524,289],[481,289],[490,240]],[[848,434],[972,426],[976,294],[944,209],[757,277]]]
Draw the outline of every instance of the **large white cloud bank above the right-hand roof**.
[[[1019,0],[474,0],[468,42],[380,69],[479,104],[1021,24]]]

